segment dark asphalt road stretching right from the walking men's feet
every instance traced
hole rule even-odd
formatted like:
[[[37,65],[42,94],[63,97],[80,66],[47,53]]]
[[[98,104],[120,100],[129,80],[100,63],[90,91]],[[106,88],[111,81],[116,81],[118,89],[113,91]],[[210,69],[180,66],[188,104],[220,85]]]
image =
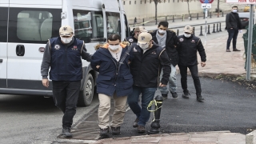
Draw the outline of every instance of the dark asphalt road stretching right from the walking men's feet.
[[[188,77],[190,99],[182,98],[179,74],[177,79],[178,98],[171,98],[169,94],[163,102],[160,118],[162,133],[230,130],[246,134],[247,129],[255,128],[255,90],[247,90],[245,86],[233,82],[201,78],[202,96],[206,102],[197,102],[192,78]],[[122,134],[118,137],[141,135],[132,127],[134,119],[135,115],[129,110],[121,127]],[[147,130],[150,130],[150,122],[146,125]]]

